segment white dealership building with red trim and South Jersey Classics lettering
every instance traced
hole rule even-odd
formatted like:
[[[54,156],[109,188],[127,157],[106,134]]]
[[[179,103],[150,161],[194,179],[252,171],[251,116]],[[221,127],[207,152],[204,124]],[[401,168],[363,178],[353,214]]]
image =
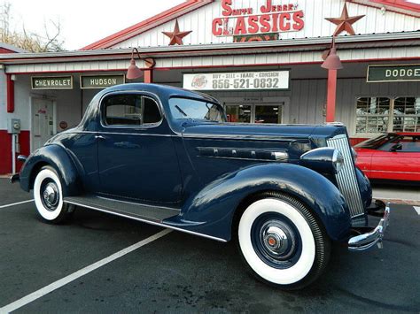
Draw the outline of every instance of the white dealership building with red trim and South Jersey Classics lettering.
[[[343,68],[326,70],[333,34]],[[128,80],[133,48],[144,76]],[[420,132],[420,4],[189,0],[81,50],[0,44],[0,174],[77,125],[98,91],[131,81],[203,91],[234,122],[323,124],[330,116],[353,143]]]

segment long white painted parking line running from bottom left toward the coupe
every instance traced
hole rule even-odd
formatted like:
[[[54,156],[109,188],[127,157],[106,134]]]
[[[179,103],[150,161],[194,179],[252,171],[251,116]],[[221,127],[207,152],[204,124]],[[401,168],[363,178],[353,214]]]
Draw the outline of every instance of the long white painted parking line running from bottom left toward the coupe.
[[[90,264],[89,266],[86,266],[84,268],[82,268],[81,270],[71,273],[70,275],[54,281],[53,283],[51,283],[48,286],[42,287],[41,289],[33,292],[30,295],[24,296],[21,299],[10,303],[8,305],[5,305],[3,308],[0,308],[0,314],[4,314],[4,313],[10,313],[12,310],[17,310],[19,308],[21,308],[24,305],[27,305],[27,303],[31,303],[34,302],[36,299],[39,299],[40,297],[42,297],[43,295],[47,295],[49,293],[51,293],[52,291],[58,289],[59,287],[63,287],[66,284],[72,282],[73,280],[77,280],[78,278],[86,275],[89,272],[93,272],[95,271],[97,268],[104,266],[105,264],[111,263],[113,262],[115,259],[120,258],[125,256],[126,254],[143,247],[144,245],[158,240],[159,238],[161,238],[164,235],[169,234],[170,232],[172,232],[172,230],[170,229],[164,229],[162,231],[160,231],[158,234],[153,234],[152,236],[148,237],[147,239],[144,239],[142,241],[139,241],[131,246],[129,246],[126,249],[121,249],[121,251],[118,251],[116,253],[114,253],[113,255],[109,256],[109,257],[105,257],[104,259],[101,259],[100,261],[97,261],[97,263],[94,264]]]

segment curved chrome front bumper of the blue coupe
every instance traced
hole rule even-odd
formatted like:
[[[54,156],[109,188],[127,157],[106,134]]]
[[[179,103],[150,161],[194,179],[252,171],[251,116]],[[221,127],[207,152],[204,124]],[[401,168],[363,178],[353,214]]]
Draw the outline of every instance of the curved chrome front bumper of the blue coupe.
[[[375,229],[366,234],[356,235],[348,241],[348,249],[352,252],[371,249],[377,244],[379,249],[383,248],[382,238],[384,238],[386,227],[389,225],[389,203],[386,203],[384,216],[379,221]]]

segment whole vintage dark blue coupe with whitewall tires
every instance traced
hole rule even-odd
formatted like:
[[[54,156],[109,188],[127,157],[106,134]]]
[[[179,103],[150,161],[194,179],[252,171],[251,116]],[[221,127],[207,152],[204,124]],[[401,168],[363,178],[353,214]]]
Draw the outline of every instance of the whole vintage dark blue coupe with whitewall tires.
[[[346,127],[227,123],[213,97],[154,84],[97,94],[15,180],[50,223],[84,207],[235,240],[251,272],[284,289],[319,277],[331,241],[380,247],[389,216],[354,166]]]

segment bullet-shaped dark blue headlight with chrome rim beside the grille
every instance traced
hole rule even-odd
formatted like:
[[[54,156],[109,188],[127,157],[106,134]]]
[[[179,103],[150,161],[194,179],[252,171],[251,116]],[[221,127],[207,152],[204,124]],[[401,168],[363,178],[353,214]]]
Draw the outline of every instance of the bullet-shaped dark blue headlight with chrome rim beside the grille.
[[[338,149],[322,147],[312,149],[300,156],[300,164],[316,172],[338,173],[344,165],[344,157]]]

